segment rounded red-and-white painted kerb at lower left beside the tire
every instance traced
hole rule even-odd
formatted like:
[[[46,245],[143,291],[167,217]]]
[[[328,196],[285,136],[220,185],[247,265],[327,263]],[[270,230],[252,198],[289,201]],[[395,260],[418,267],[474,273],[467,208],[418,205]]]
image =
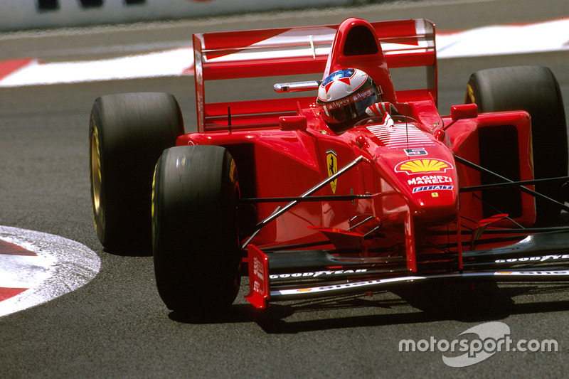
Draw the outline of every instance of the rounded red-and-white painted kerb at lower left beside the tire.
[[[0,316],[75,291],[100,270],[97,253],[58,235],[0,226],[0,240],[27,252],[3,254],[0,250],[0,289],[15,294],[0,301]]]

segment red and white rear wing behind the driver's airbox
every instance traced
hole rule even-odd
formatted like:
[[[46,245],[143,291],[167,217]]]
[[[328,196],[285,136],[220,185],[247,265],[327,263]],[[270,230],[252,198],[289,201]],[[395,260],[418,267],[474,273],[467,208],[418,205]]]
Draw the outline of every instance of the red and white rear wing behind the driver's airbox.
[[[425,67],[426,88],[395,91],[398,101],[437,100],[435,24],[423,18],[370,23],[390,69]],[[193,35],[198,132],[278,127],[279,117],[314,104],[316,94],[272,100],[206,102],[206,81],[326,70],[339,26],[275,28]],[[357,57],[356,57],[357,58]],[[246,89],[237,89],[245,91]]]

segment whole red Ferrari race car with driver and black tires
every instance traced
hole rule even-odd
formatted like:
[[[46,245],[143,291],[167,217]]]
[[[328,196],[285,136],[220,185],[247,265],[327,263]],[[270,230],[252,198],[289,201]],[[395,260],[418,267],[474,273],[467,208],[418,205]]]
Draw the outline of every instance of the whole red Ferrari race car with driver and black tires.
[[[548,68],[474,73],[444,116],[425,19],[203,33],[193,50],[197,132],[164,93],[105,95],[90,116],[97,236],[152,246],[169,309],[227,309],[244,263],[257,309],[569,279],[569,230],[555,226],[567,132]],[[390,70],[419,72],[417,87],[395,90]],[[234,84],[275,75],[294,80],[272,98]],[[224,80],[240,99],[207,102],[206,82]]]

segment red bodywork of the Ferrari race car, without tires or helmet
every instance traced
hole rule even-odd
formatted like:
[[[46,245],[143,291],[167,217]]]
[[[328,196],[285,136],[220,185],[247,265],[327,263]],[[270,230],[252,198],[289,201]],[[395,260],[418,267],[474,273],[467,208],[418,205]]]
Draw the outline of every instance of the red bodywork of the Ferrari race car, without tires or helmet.
[[[235,159],[240,214],[250,216],[242,225],[250,260],[248,299],[258,308],[274,297],[267,251],[346,255],[368,265],[368,272],[381,263],[380,282],[402,276],[411,280],[424,272],[462,272],[463,252],[481,243],[496,246],[475,240],[474,232],[489,224],[514,225],[504,215],[489,218],[494,214],[485,214],[480,191],[459,192],[479,186],[482,179],[456,157],[481,164],[480,139],[502,135],[483,130],[504,129],[514,136],[517,149],[515,161],[504,164],[515,166],[520,181],[533,179],[529,115],[477,114],[472,105],[462,105],[453,110],[454,117],[440,116],[435,26],[430,21],[349,18],[339,26],[206,33],[194,35],[193,46],[198,132],[179,137],[176,144],[223,146]],[[395,90],[389,70],[417,67],[425,68],[426,85]],[[319,79],[341,68],[364,70],[381,85],[383,101],[403,115],[394,117],[394,127],[371,122],[335,134],[320,117],[316,92],[276,100],[206,102],[209,80],[275,73]],[[346,166],[343,174],[326,182]],[[314,201],[299,201],[319,183],[322,188],[310,194]],[[277,206],[292,201],[296,203],[289,210],[262,223]],[[522,193],[514,208],[516,223],[533,224],[532,196]],[[299,277],[310,272],[295,270]],[[310,292],[312,287],[296,290]]]

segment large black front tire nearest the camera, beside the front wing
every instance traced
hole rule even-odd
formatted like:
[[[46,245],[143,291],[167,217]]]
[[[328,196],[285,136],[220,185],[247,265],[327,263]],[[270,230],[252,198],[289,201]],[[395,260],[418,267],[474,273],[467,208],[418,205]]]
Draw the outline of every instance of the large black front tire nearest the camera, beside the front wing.
[[[220,146],[166,149],[156,164],[152,234],[156,286],[190,316],[228,309],[240,285],[235,161]]]

